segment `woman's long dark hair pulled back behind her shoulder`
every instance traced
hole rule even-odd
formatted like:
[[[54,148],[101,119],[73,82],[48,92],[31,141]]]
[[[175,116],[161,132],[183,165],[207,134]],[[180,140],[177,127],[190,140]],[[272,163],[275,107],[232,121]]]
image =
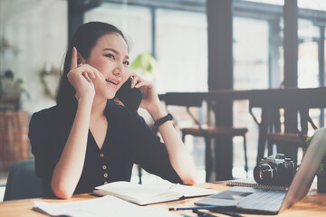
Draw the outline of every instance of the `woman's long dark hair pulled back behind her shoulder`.
[[[68,45],[68,50],[66,52],[63,63],[62,77],[56,98],[57,105],[64,107],[73,107],[77,105],[77,100],[74,97],[76,90],[74,90],[67,78],[67,74],[71,69],[72,48],[75,47],[77,51],[81,53],[84,59],[88,59],[92,47],[95,46],[96,42],[102,35],[107,33],[120,34],[124,41],[127,43],[129,50],[129,42],[126,40],[123,33],[114,25],[101,22],[90,22],[87,24],[82,24],[77,29],[76,33],[73,34],[72,41]]]

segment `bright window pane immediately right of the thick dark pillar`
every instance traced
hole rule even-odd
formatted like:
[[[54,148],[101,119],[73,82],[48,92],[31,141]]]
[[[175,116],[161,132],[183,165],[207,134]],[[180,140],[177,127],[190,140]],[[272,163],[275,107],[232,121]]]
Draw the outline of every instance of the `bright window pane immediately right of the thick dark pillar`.
[[[268,88],[268,23],[234,18],[234,89]]]

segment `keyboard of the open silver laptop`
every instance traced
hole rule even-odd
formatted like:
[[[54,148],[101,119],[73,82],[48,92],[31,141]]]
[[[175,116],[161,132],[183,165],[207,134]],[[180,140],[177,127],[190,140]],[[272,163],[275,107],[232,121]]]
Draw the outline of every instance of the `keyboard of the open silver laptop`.
[[[286,191],[261,190],[246,196],[238,206],[245,209],[278,211],[285,194]]]

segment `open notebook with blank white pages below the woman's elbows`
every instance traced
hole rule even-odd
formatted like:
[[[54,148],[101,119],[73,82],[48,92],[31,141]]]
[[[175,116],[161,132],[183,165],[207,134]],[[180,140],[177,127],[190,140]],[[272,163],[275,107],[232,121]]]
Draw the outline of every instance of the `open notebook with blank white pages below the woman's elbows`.
[[[218,192],[183,184],[134,184],[120,181],[98,186],[93,193],[101,196],[113,195],[131,203],[146,205]]]

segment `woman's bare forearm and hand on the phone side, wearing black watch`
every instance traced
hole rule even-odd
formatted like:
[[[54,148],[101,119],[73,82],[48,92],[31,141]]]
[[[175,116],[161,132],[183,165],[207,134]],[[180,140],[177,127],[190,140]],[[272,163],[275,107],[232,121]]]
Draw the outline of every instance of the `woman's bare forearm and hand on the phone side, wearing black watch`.
[[[153,84],[149,81],[142,80],[134,72],[131,72],[131,76],[134,77],[131,87],[140,88],[144,92],[144,98],[141,101],[140,107],[147,109],[154,121],[166,116],[167,112],[159,101]],[[195,184],[197,180],[196,166],[172,122],[165,122],[158,127],[158,131],[167,146],[170,163],[177,172],[177,175],[179,175],[184,184]]]

